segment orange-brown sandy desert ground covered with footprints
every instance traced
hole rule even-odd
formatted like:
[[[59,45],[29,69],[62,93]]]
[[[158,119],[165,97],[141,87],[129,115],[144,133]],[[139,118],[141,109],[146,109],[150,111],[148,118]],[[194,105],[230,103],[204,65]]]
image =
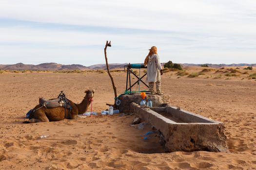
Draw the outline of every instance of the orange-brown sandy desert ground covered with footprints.
[[[190,73],[202,69],[187,68]],[[133,115],[23,124],[39,97],[56,98],[60,90],[73,102],[81,102],[84,91],[94,88],[94,111],[107,109],[106,103],[114,101],[110,79],[99,72],[4,72],[0,74],[0,170],[255,170],[256,81],[248,79],[255,71],[243,74],[239,69],[239,75],[225,76],[224,70],[206,70],[195,78],[169,71],[162,76],[162,90],[170,95],[171,105],[224,122],[230,153],[164,153],[157,137],[143,140],[150,127],[130,126]],[[126,74],[112,75],[120,94]],[[42,135],[48,137],[39,138]]]

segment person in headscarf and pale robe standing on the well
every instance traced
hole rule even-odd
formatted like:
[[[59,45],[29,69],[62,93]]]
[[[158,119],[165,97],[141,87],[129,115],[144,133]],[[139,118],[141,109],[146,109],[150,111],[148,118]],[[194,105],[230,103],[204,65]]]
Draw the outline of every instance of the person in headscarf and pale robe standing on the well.
[[[161,75],[163,75],[162,66],[158,56],[157,47],[153,46],[149,49],[149,53],[144,61],[144,66],[147,66],[147,80],[149,83],[149,91],[151,94],[156,94],[154,91],[154,82],[157,84],[157,93],[158,95],[163,95],[161,92]]]

